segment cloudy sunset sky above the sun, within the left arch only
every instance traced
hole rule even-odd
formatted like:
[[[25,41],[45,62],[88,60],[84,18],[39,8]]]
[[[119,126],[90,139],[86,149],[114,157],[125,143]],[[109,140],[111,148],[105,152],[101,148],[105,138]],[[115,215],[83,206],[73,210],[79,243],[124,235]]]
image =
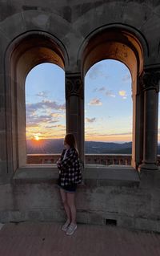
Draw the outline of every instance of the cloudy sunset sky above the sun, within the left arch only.
[[[66,132],[65,76],[51,63],[34,67],[26,77],[26,138],[62,138]]]

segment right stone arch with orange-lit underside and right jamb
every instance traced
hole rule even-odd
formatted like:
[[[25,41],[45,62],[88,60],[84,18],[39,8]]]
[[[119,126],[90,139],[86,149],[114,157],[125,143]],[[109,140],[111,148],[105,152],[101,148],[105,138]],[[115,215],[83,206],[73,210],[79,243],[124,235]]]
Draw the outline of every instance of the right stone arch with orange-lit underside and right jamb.
[[[116,59],[126,64],[132,77],[133,98],[133,141],[132,166],[137,168],[142,162],[143,151],[143,95],[139,77],[142,75],[144,51],[138,38],[130,31],[119,27],[94,31],[83,43],[79,54],[82,55],[82,76],[94,63],[102,59]]]

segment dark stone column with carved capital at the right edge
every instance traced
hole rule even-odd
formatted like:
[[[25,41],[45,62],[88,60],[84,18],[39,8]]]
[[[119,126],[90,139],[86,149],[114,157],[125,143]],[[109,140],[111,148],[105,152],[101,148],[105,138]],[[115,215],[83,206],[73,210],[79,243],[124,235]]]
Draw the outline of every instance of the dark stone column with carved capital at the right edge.
[[[143,161],[140,169],[158,169],[158,91],[160,73],[146,71],[143,74],[144,88],[144,136]]]

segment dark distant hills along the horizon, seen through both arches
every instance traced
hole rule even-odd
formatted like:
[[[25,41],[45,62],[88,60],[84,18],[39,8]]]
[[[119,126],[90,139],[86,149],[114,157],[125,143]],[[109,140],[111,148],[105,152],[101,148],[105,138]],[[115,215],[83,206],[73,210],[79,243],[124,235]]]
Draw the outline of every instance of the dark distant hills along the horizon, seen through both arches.
[[[26,152],[27,154],[53,154],[61,153],[63,146],[63,140],[26,140]],[[118,153],[118,154],[130,154],[132,143],[109,143],[98,141],[86,141],[85,152],[86,153]]]

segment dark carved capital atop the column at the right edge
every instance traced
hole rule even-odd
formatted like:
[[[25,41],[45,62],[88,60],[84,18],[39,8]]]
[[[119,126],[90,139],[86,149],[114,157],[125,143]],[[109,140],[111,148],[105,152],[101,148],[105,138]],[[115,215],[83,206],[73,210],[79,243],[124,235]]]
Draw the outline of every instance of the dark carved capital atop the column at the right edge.
[[[144,71],[140,79],[144,91],[159,91],[160,71]]]

